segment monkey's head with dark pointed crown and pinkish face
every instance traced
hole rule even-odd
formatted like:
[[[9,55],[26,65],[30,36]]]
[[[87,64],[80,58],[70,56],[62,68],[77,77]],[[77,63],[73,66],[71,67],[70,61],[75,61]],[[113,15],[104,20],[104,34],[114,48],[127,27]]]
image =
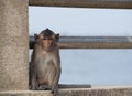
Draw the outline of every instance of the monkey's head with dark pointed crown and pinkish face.
[[[59,34],[55,34],[52,30],[43,30],[40,34],[35,34],[35,42],[38,42],[45,50],[56,46]]]

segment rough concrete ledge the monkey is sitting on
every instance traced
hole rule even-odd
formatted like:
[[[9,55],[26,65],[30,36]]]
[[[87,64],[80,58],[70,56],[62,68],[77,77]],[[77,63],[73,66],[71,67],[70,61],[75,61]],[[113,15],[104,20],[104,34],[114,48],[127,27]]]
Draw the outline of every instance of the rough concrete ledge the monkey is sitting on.
[[[0,92],[0,96],[53,96],[51,90]],[[132,96],[132,86],[63,88],[59,96]]]

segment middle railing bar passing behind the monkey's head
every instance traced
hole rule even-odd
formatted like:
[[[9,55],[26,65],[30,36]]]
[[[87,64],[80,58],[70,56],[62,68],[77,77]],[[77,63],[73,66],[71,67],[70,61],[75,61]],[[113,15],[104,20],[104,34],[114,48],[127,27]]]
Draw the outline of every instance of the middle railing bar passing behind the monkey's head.
[[[30,36],[33,49],[34,36]],[[132,36],[61,36],[59,49],[132,49]]]

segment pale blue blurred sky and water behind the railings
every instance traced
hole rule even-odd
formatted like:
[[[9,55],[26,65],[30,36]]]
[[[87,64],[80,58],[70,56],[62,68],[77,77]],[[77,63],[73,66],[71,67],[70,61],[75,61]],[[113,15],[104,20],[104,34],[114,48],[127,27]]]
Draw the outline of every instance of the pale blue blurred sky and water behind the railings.
[[[132,10],[29,7],[30,35],[132,36]],[[30,50],[29,61],[32,50]],[[131,49],[62,50],[61,84],[132,85]]]

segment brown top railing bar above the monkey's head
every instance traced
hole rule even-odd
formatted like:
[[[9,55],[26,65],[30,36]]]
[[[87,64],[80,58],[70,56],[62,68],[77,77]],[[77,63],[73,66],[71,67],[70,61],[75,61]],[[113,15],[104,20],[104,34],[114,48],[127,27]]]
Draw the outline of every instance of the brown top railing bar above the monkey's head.
[[[29,0],[30,6],[132,9],[132,0]]]

